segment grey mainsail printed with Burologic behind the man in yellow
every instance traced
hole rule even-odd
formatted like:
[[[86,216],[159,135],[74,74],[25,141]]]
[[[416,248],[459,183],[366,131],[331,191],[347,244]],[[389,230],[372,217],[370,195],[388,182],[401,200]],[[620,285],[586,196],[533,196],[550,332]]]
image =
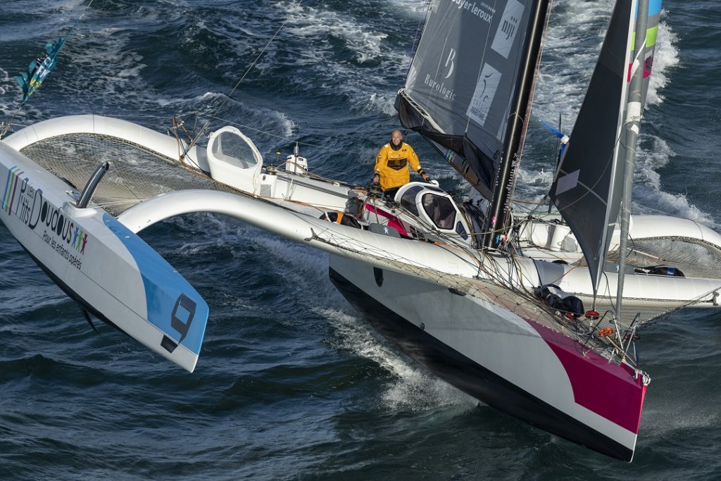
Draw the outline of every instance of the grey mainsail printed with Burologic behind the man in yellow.
[[[504,154],[509,125],[526,114],[513,109],[524,46],[547,0],[488,3],[433,1],[397,109],[404,127],[454,151],[451,164],[490,199],[497,170],[513,162]]]

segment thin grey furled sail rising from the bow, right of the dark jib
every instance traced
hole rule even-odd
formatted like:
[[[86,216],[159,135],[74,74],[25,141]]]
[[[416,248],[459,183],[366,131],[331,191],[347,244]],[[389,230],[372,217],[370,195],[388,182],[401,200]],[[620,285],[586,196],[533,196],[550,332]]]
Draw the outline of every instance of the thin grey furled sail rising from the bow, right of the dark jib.
[[[621,303],[624,292],[624,268],[627,259],[629,222],[631,218],[631,190],[633,187],[636,145],[642,117],[643,70],[646,58],[646,35],[648,27],[648,0],[639,0],[636,12],[636,37],[634,42],[634,61],[629,84],[629,96],[626,110],[626,156],[624,158],[624,185],[621,200],[619,239],[619,279],[616,286],[616,319],[621,317]]]

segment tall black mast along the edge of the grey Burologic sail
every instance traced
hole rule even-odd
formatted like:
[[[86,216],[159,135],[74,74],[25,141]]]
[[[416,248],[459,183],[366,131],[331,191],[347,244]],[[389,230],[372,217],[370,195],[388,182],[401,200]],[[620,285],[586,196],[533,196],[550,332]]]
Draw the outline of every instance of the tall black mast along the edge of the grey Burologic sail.
[[[493,195],[488,206],[485,229],[487,232],[483,239],[484,247],[496,247],[498,245],[498,233],[505,229],[506,219],[509,214],[509,200],[513,192],[513,181],[516,177],[516,169],[520,161],[520,154],[523,147],[523,133],[525,131],[526,117],[530,112],[534,79],[536,68],[541,54],[541,42],[543,40],[544,24],[546,22],[549,0],[537,0],[531,12],[531,30],[526,37],[526,44],[523,45],[523,62],[521,63],[522,74],[518,76],[516,84],[516,101],[513,102],[510,116],[512,119],[508,125],[501,166],[496,173]]]

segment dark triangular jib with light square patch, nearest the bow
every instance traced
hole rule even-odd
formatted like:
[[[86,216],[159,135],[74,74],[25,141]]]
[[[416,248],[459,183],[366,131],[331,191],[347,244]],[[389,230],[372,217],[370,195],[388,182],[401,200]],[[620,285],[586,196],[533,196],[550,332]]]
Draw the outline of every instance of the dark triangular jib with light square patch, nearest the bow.
[[[643,98],[653,63],[660,0],[650,2]],[[551,198],[575,234],[590,271],[594,291],[618,220],[625,156],[622,136],[629,63],[633,58],[632,22],[637,2],[619,0],[593,71],[571,141],[551,187]],[[650,45],[649,45],[650,44]]]

